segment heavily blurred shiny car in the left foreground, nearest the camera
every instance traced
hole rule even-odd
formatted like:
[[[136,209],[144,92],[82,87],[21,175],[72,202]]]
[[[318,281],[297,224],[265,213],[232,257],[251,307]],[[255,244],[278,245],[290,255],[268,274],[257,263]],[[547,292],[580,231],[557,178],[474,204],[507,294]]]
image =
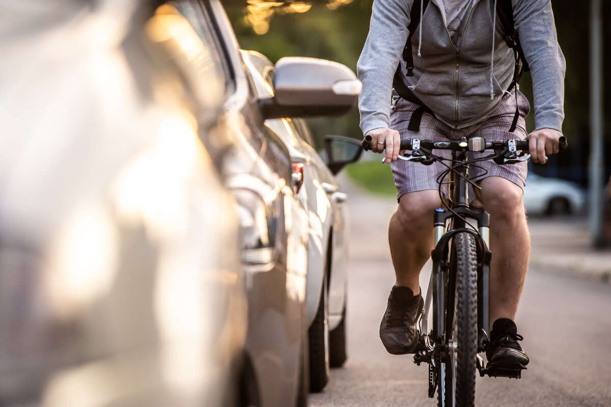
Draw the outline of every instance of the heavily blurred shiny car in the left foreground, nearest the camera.
[[[3,4],[2,406],[241,402],[228,87],[158,4]]]

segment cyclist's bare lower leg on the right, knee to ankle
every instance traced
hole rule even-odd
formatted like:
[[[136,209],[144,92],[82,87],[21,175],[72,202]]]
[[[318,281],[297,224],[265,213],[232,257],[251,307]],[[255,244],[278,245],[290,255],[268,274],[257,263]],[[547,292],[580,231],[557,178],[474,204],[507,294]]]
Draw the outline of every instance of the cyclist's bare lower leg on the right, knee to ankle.
[[[491,215],[490,322],[515,320],[530,252],[522,189],[500,177],[483,179],[481,187]]]

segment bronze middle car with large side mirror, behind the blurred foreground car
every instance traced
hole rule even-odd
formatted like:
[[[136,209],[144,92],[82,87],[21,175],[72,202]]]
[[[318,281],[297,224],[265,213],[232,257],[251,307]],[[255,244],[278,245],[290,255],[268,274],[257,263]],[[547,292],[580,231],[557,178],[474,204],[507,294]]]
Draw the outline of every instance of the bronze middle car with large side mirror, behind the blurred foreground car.
[[[291,153],[265,121],[345,113],[356,103],[360,82],[338,63],[284,58],[276,65],[274,95],[262,96],[244,68],[221,3],[173,4],[196,32],[213,33],[208,47],[216,51],[210,60],[224,67],[224,80],[231,89],[221,111],[227,132],[219,138],[230,134],[235,146],[223,173],[240,205],[241,261],[249,305],[245,404],[304,406],[309,382],[305,278],[311,217],[296,198],[302,180],[293,170]],[[326,193],[321,193],[328,205]],[[326,244],[321,243],[323,250]]]

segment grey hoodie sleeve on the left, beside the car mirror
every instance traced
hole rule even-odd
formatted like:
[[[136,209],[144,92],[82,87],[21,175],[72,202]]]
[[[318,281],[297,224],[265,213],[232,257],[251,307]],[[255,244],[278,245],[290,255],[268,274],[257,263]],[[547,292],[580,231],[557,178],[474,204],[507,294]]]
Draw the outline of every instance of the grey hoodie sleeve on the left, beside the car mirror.
[[[367,41],[357,63],[363,83],[359,97],[363,134],[390,126],[392,78],[408,38],[414,0],[374,0]]]

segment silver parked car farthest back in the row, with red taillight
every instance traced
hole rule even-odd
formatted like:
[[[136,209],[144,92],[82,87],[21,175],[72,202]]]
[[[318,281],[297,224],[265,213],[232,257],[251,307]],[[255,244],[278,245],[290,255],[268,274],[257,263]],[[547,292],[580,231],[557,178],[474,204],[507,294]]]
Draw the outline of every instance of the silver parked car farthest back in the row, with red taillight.
[[[259,98],[274,95],[274,65],[256,51],[242,51]],[[334,173],[359,159],[359,142],[329,136],[327,144],[336,151],[351,152],[342,164],[332,162],[334,173],[313,148],[307,124],[299,118],[265,121],[290,153],[293,176],[298,182],[297,197],[309,218],[307,268],[307,320],[309,323],[310,390],[320,392],[331,367],[342,366],[346,354],[346,258],[348,227],[346,195],[339,190]],[[331,147],[332,146],[332,147]],[[328,156],[328,154],[327,154]],[[337,152],[336,152],[337,156]]]

